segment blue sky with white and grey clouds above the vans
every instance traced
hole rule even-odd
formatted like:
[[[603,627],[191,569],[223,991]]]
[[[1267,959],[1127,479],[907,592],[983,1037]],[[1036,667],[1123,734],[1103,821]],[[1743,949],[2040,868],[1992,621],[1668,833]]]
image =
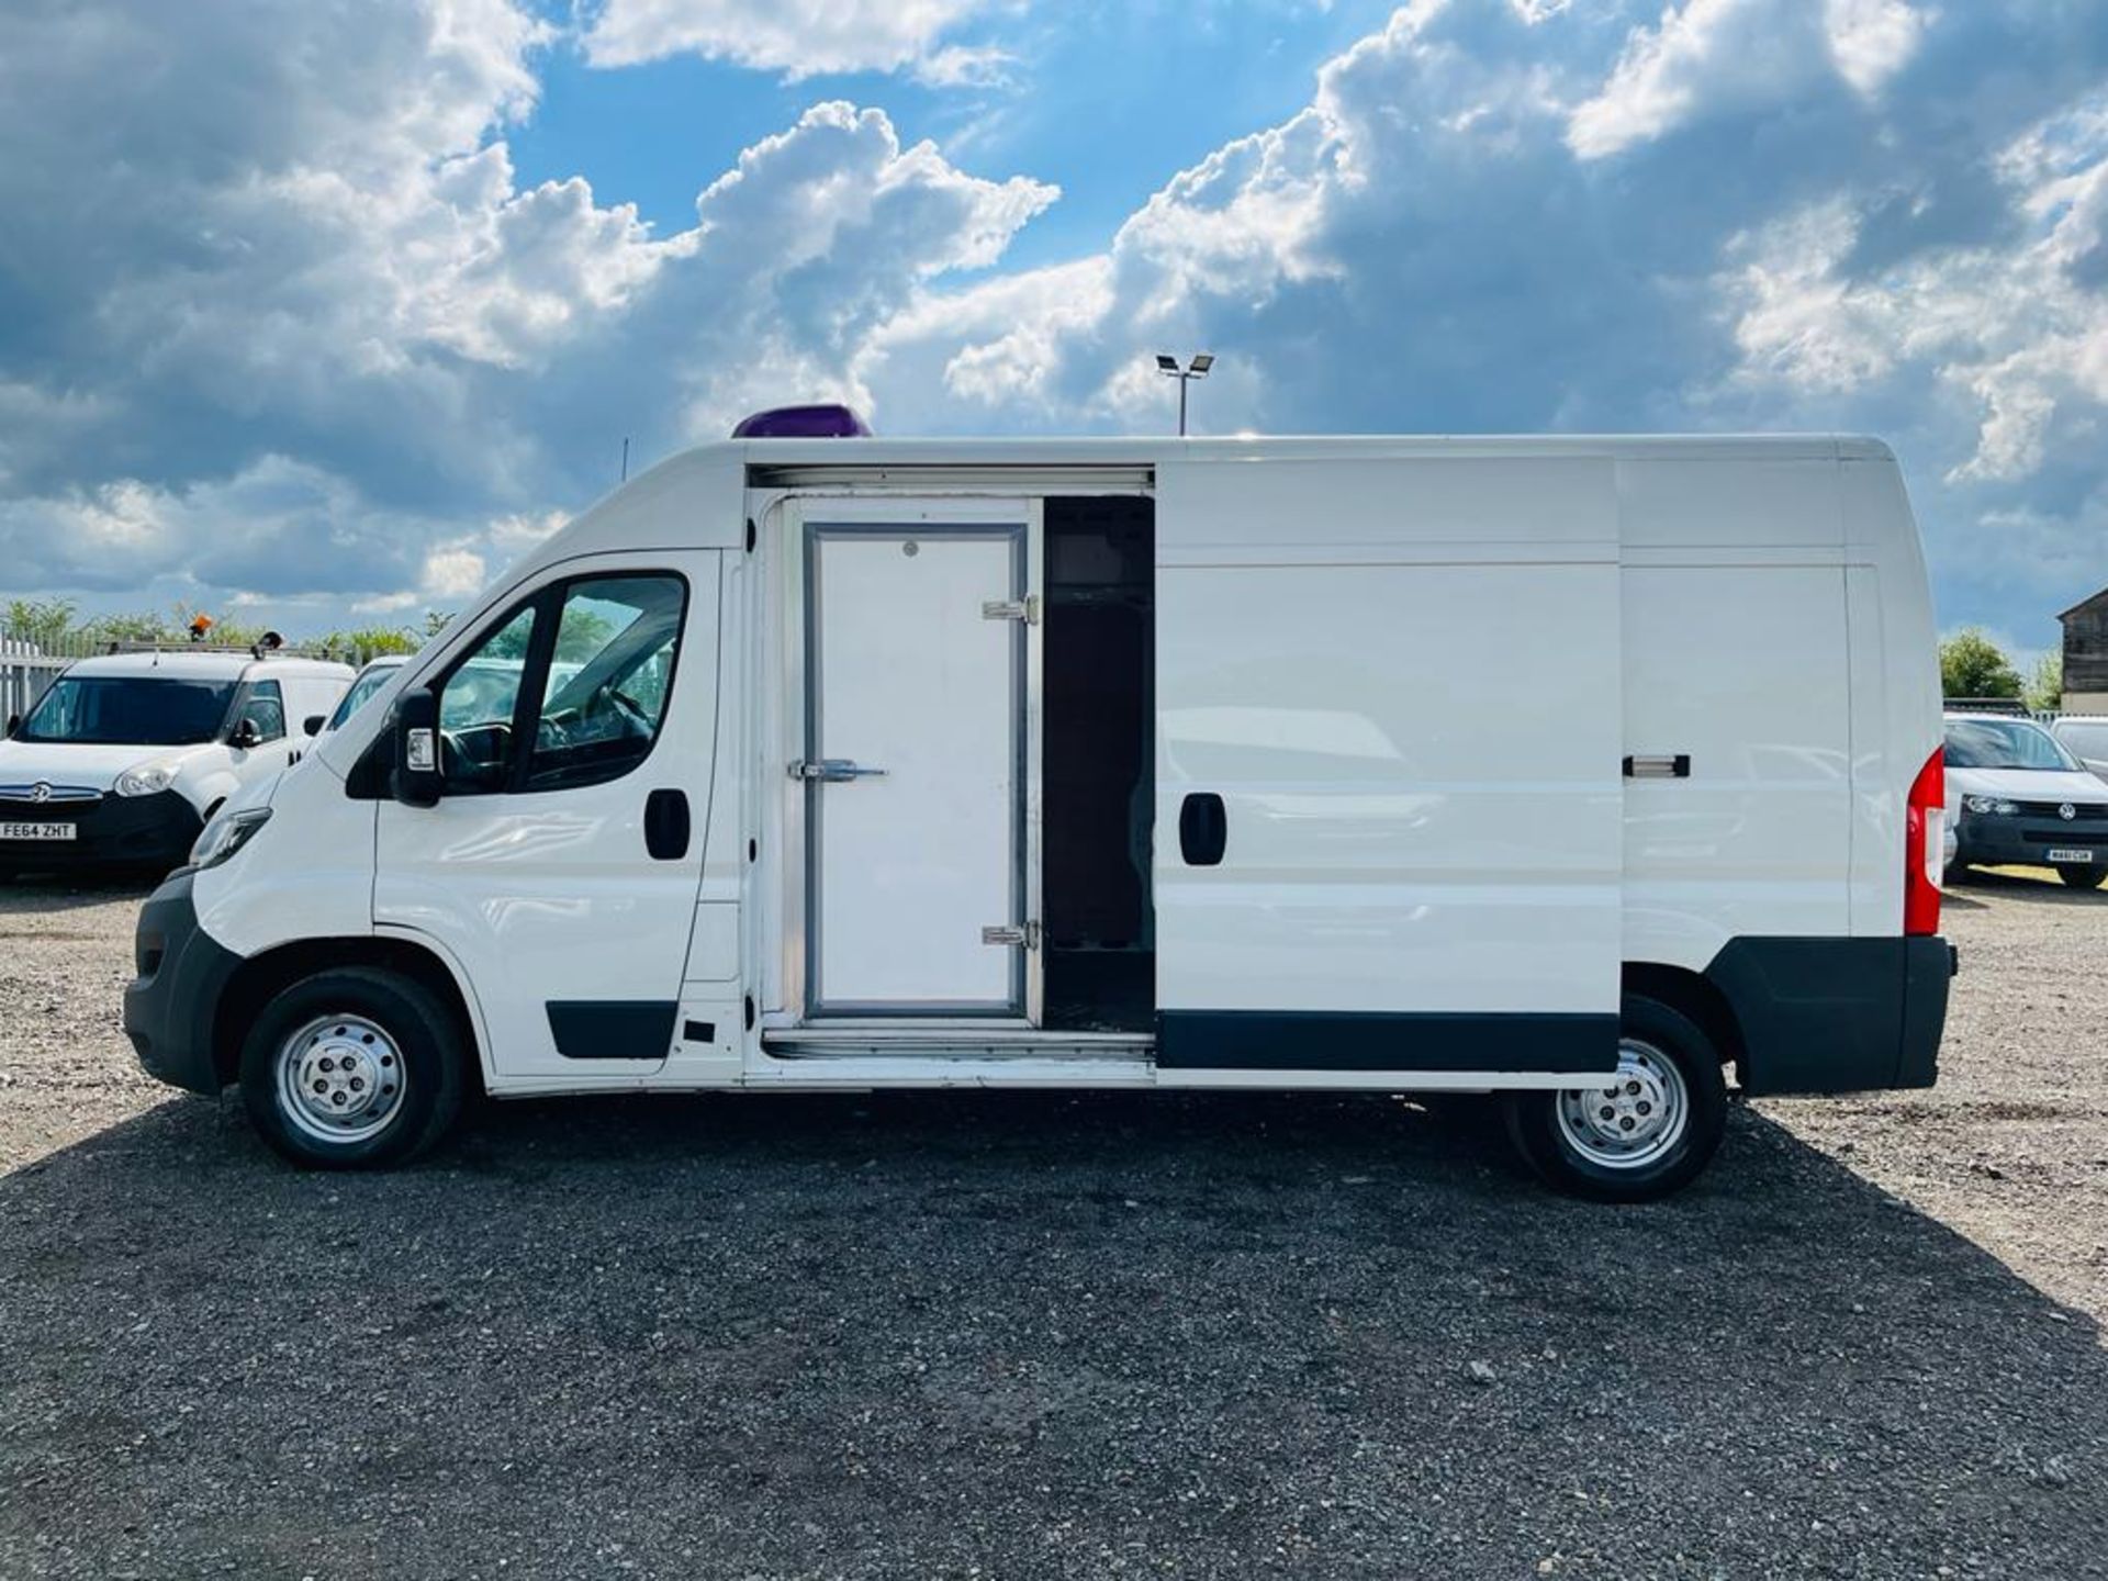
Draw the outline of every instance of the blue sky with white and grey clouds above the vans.
[[[457,607],[742,411],[1868,430],[2108,584],[2104,0],[8,0],[0,597]]]

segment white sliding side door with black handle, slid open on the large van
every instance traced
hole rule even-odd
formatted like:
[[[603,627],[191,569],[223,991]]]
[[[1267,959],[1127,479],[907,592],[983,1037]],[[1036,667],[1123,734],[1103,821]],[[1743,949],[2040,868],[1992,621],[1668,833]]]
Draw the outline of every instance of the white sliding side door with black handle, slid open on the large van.
[[[1602,1069],[1619,993],[1608,468],[1166,468],[1159,1062]],[[1189,860],[1221,797],[1221,862]]]

